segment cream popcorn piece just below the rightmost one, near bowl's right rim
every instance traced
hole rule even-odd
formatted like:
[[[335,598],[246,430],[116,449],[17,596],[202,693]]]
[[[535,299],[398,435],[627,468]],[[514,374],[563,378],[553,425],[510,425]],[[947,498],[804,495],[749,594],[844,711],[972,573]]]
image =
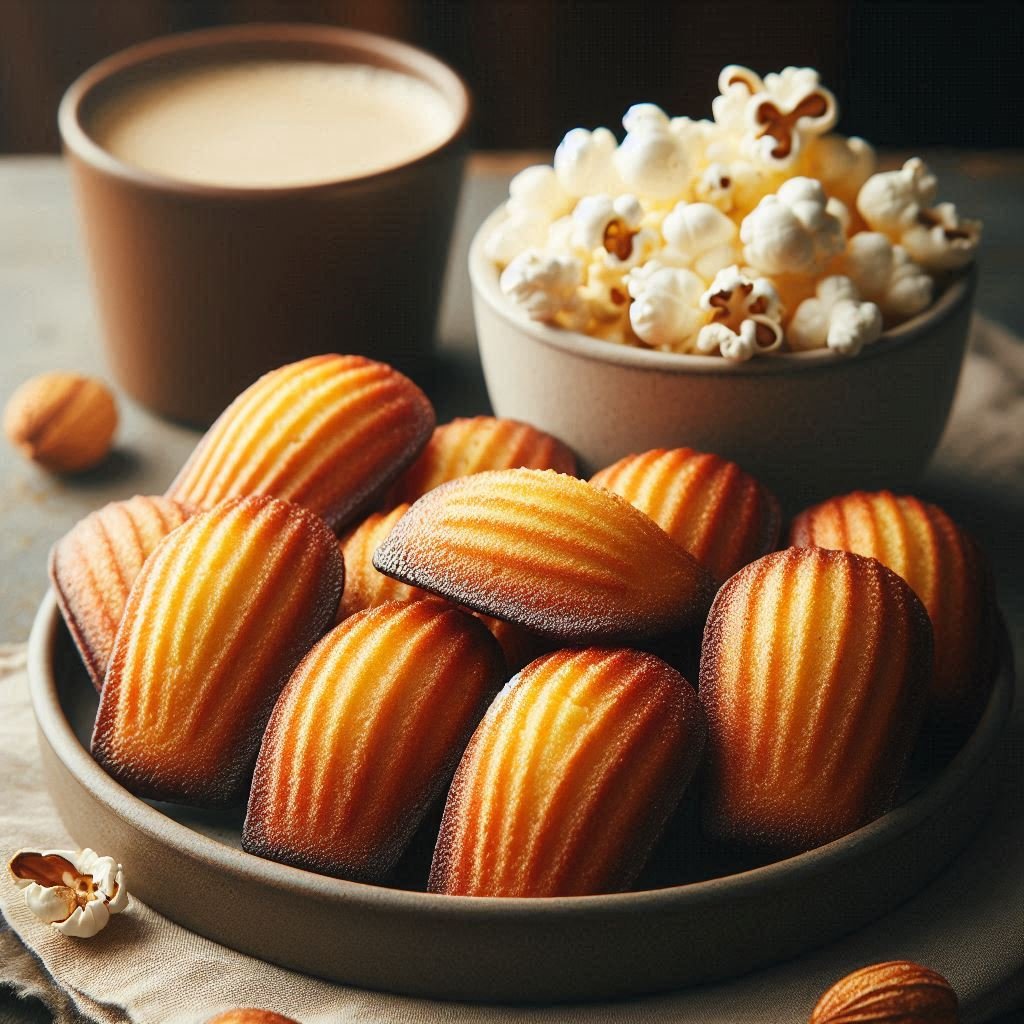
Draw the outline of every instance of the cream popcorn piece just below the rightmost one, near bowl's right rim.
[[[838,264],[888,321],[907,319],[932,302],[935,284],[929,274],[878,231],[854,234]]]

